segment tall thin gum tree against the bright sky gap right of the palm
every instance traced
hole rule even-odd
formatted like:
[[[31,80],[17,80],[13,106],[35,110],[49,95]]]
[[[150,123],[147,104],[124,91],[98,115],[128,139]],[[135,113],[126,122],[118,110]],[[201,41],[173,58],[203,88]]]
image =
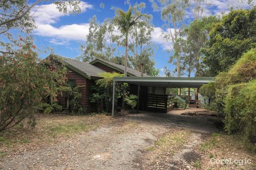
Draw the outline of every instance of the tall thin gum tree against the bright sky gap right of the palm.
[[[181,74],[181,49],[178,44],[179,31],[188,7],[188,0],[159,0],[158,3],[151,0],[153,8],[161,11],[161,17],[164,21],[164,27],[167,32],[162,33],[162,38],[169,43],[173,55],[170,56],[169,62],[176,65],[177,76]]]

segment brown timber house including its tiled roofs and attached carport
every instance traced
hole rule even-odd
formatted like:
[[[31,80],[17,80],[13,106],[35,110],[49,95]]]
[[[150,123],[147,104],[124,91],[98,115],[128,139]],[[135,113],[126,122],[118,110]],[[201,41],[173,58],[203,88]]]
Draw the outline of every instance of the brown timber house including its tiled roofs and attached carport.
[[[57,55],[54,55],[57,56]],[[100,73],[117,72],[124,73],[124,66],[114,64],[113,62],[102,59],[95,59],[92,62],[84,62],[77,59],[64,58],[57,56],[62,60],[68,68],[66,78],[68,83],[81,87],[82,99],[81,104],[86,108],[87,112],[95,112],[95,103],[90,102],[90,98],[94,91],[92,86],[95,80],[101,79]],[[142,66],[143,70],[143,66]],[[168,112],[174,107],[174,99],[178,99],[185,108],[185,100],[178,95],[166,94],[166,88],[199,88],[203,84],[214,81],[212,77],[149,77],[149,75],[141,73],[132,68],[127,68],[127,77],[114,77],[115,82],[128,83],[130,93],[138,96],[137,110],[151,110],[157,112]],[[113,91],[114,92],[114,91]],[[114,96],[114,93],[113,93]],[[114,97],[113,97],[114,101]],[[60,105],[67,105],[67,98],[58,97]],[[114,103],[112,103],[112,114],[114,112]]]

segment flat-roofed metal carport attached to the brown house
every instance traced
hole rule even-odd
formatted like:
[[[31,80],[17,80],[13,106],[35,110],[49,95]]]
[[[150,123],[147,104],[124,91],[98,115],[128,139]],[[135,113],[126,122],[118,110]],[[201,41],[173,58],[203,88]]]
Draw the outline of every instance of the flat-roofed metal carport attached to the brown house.
[[[112,100],[112,116],[114,116],[114,96],[115,96],[115,83],[128,83],[130,85],[137,85],[138,107],[141,103],[141,87],[164,87],[164,88],[200,88],[204,84],[208,84],[210,81],[214,81],[213,77],[114,77],[113,78],[113,100]],[[144,93],[149,95],[148,92]],[[144,97],[144,96],[143,96]],[[168,103],[169,96],[164,95],[149,95],[149,103],[152,100],[159,102],[158,109],[167,109],[170,105]],[[147,104],[148,105],[148,104]],[[155,104],[157,108],[157,103]],[[150,105],[152,109],[153,106]]]

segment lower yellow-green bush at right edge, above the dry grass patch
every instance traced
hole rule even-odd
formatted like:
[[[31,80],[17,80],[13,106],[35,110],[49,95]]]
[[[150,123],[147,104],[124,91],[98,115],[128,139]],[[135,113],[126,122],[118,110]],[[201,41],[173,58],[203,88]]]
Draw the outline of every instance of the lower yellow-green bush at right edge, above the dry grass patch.
[[[224,102],[225,130],[256,144],[256,80],[229,86]]]

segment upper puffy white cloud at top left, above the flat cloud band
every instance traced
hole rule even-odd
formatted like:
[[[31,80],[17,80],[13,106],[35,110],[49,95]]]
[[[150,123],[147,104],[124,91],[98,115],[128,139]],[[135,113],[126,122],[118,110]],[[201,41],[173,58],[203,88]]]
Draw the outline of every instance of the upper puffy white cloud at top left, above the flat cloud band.
[[[68,8],[67,13],[60,12],[56,8],[56,4],[47,4],[47,5],[36,5],[31,14],[35,18],[35,22],[38,24],[52,24],[56,23],[60,17],[69,16],[72,14],[71,9]],[[93,8],[93,5],[90,5],[86,2],[80,3],[81,12],[85,12],[87,9]]]

